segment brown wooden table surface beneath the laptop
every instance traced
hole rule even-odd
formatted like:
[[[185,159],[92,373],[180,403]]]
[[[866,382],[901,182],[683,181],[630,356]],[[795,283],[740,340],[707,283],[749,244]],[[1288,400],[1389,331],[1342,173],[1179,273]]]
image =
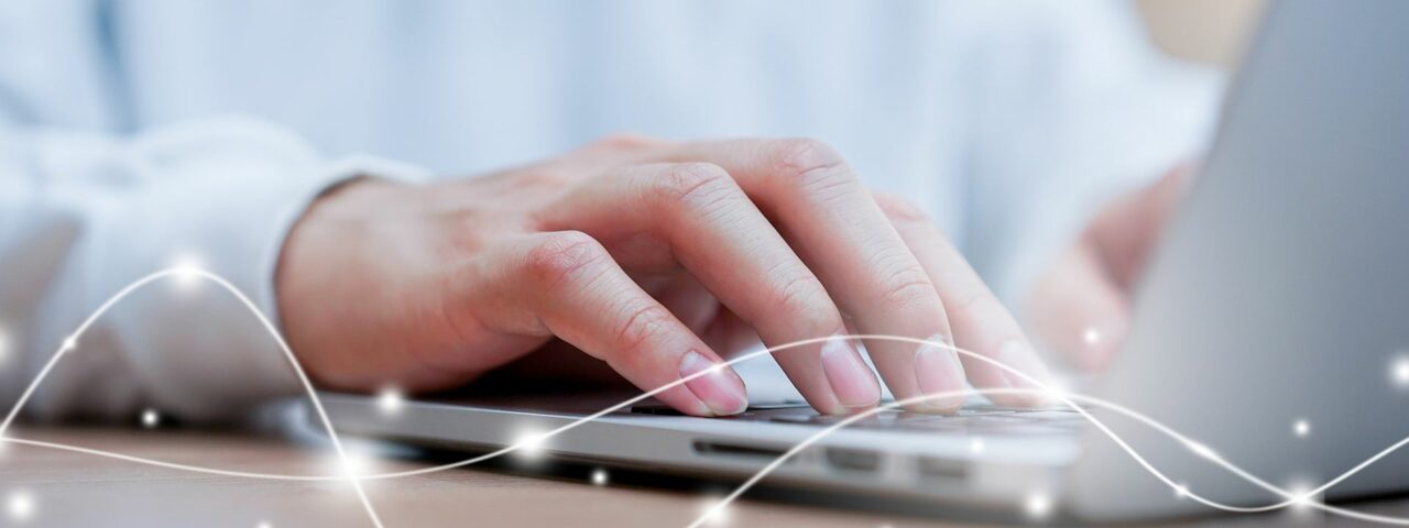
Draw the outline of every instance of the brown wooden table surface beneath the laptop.
[[[325,451],[280,438],[186,429],[37,428],[13,438],[61,442],[124,455],[241,472],[328,474]],[[414,469],[424,462],[378,460],[365,470]],[[652,489],[579,476],[527,476],[507,467],[457,469],[366,482],[386,527],[685,527],[710,497],[690,489]],[[15,522],[17,497],[32,505]],[[717,496],[716,496],[717,497]],[[87,453],[0,444],[0,525],[25,527],[369,527],[347,482],[258,480],[200,474]],[[1358,510],[1409,513],[1398,501]],[[1205,520],[1196,525],[1285,525],[1291,514]],[[1312,525],[1355,525],[1308,517]],[[728,527],[944,527],[934,518],[843,511],[745,498],[719,525]]]

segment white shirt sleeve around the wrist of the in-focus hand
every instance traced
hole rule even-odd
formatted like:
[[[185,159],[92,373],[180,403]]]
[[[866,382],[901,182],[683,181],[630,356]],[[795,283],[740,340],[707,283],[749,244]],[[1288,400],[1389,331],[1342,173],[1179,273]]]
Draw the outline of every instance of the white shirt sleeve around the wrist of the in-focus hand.
[[[0,127],[0,401],[15,401],[114,294],[172,266],[224,277],[278,322],[286,232],[325,189],[366,175],[423,177],[373,158],[324,159],[248,118],[132,137]],[[200,279],[151,282],[75,338],[25,414],[124,420],[151,407],[220,421],[302,389],[251,307]]]

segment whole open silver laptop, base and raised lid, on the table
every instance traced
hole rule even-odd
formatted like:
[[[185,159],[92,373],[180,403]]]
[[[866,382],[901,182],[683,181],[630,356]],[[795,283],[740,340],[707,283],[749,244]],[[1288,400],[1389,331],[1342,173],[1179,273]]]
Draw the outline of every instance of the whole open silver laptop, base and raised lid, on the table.
[[[1050,507],[1120,521],[1219,511],[1195,494],[1277,504],[1286,497],[1255,482],[1316,489],[1409,438],[1406,28],[1409,1],[1291,0],[1268,10],[1210,158],[1151,259],[1129,341],[1089,391],[1198,446],[1102,406],[1088,408],[1109,434],[1069,408],[975,398],[957,415],[861,420],[765,483],[936,513]],[[368,396],[324,401],[342,434],[483,452],[630,396],[462,394],[407,401],[399,413]],[[788,398],[730,418],[643,401],[540,448],[738,483],[838,420]],[[1395,452],[1320,498],[1409,490],[1406,474],[1409,453]]]

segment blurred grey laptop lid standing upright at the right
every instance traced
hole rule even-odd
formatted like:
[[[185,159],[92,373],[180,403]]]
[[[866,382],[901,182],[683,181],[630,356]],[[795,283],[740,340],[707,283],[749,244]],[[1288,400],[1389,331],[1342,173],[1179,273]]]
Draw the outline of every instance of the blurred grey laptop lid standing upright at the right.
[[[1409,356],[1409,1],[1270,8],[1151,262],[1103,397],[1281,487],[1316,487],[1409,436],[1409,389],[1391,375]],[[1282,500],[1148,425],[1100,417],[1192,493]],[[1409,490],[1405,474],[1409,451],[1327,494]],[[1099,431],[1074,477],[1068,507],[1084,517],[1215,511],[1175,498]]]

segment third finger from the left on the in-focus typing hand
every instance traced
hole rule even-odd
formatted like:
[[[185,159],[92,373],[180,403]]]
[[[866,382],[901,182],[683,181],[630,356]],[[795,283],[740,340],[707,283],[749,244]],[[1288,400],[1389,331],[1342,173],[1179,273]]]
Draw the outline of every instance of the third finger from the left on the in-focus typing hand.
[[[745,139],[686,144],[672,156],[709,161],[734,175],[858,329],[951,342],[934,283],[836,151],[807,139]],[[867,348],[898,398],[965,389],[952,351],[890,339]],[[957,394],[909,407],[952,411],[962,400]]]

